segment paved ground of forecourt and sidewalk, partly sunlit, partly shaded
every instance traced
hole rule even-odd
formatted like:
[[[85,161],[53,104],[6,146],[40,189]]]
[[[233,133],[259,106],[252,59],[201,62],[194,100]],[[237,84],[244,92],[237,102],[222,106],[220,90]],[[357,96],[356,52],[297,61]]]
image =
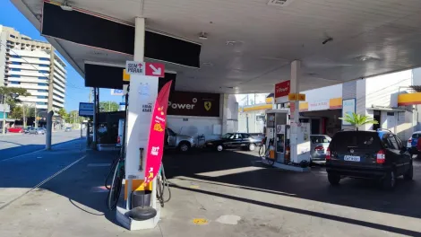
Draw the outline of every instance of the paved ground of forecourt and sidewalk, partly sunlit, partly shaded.
[[[265,169],[242,152],[167,153],[172,199],[159,227],[128,232],[98,188],[116,154],[86,152],[83,145],[0,162],[0,236],[421,236],[419,161],[414,181],[399,180],[387,192],[362,180],[333,188],[323,167]]]

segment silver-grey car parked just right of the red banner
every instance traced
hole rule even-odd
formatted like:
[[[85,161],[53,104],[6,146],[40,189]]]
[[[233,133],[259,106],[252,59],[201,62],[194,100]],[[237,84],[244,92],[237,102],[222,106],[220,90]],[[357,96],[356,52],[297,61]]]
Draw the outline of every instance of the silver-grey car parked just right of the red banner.
[[[186,153],[194,147],[196,143],[194,142],[193,136],[185,136],[176,134],[170,128],[165,129],[165,147],[166,149],[178,149],[180,152]]]

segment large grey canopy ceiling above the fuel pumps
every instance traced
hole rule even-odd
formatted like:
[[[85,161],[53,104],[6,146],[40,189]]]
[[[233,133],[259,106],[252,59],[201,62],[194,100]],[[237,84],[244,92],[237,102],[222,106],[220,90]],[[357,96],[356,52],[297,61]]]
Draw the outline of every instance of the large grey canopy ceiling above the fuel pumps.
[[[11,1],[41,31],[43,1]],[[275,83],[289,79],[290,63],[296,59],[302,62],[301,91],[421,66],[419,0],[71,0],[67,3],[72,6],[72,12],[129,26],[134,25],[135,17],[144,17],[150,32],[202,45],[198,49],[197,66],[166,64],[168,70],[177,74],[178,91],[272,92]],[[72,28],[73,22],[54,23],[66,29]],[[108,35],[97,40],[118,37]],[[86,63],[124,66],[126,60],[133,60],[130,52],[93,48],[53,37],[47,40],[83,77]],[[133,48],[132,45],[122,47]],[[177,54],[172,57],[185,57],[183,52]]]

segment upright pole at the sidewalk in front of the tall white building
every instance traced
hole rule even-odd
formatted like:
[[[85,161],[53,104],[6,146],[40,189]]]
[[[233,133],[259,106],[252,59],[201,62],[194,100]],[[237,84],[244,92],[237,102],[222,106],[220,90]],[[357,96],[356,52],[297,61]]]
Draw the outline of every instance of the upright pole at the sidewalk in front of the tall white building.
[[[48,105],[47,105],[47,136],[46,150],[51,150],[51,136],[53,132],[53,90],[54,90],[54,48],[51,47],[49,55]]]

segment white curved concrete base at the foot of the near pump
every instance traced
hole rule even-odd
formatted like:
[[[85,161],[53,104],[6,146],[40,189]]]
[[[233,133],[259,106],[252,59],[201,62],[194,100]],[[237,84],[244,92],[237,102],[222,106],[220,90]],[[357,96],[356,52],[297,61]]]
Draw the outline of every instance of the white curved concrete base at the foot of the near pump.
[[[156,205],[157,215],[155,217],[145,220],[145,221],[135,221],[132,218],[125,215],[128,210],[125,208],[116,207],[116,219],[119,224],[125,227],[129,231],[139,231],[139,230],[146,230],[146,229],[153,229],[157,226],[160,215],[161,215],[161,206],[159,203]]]

